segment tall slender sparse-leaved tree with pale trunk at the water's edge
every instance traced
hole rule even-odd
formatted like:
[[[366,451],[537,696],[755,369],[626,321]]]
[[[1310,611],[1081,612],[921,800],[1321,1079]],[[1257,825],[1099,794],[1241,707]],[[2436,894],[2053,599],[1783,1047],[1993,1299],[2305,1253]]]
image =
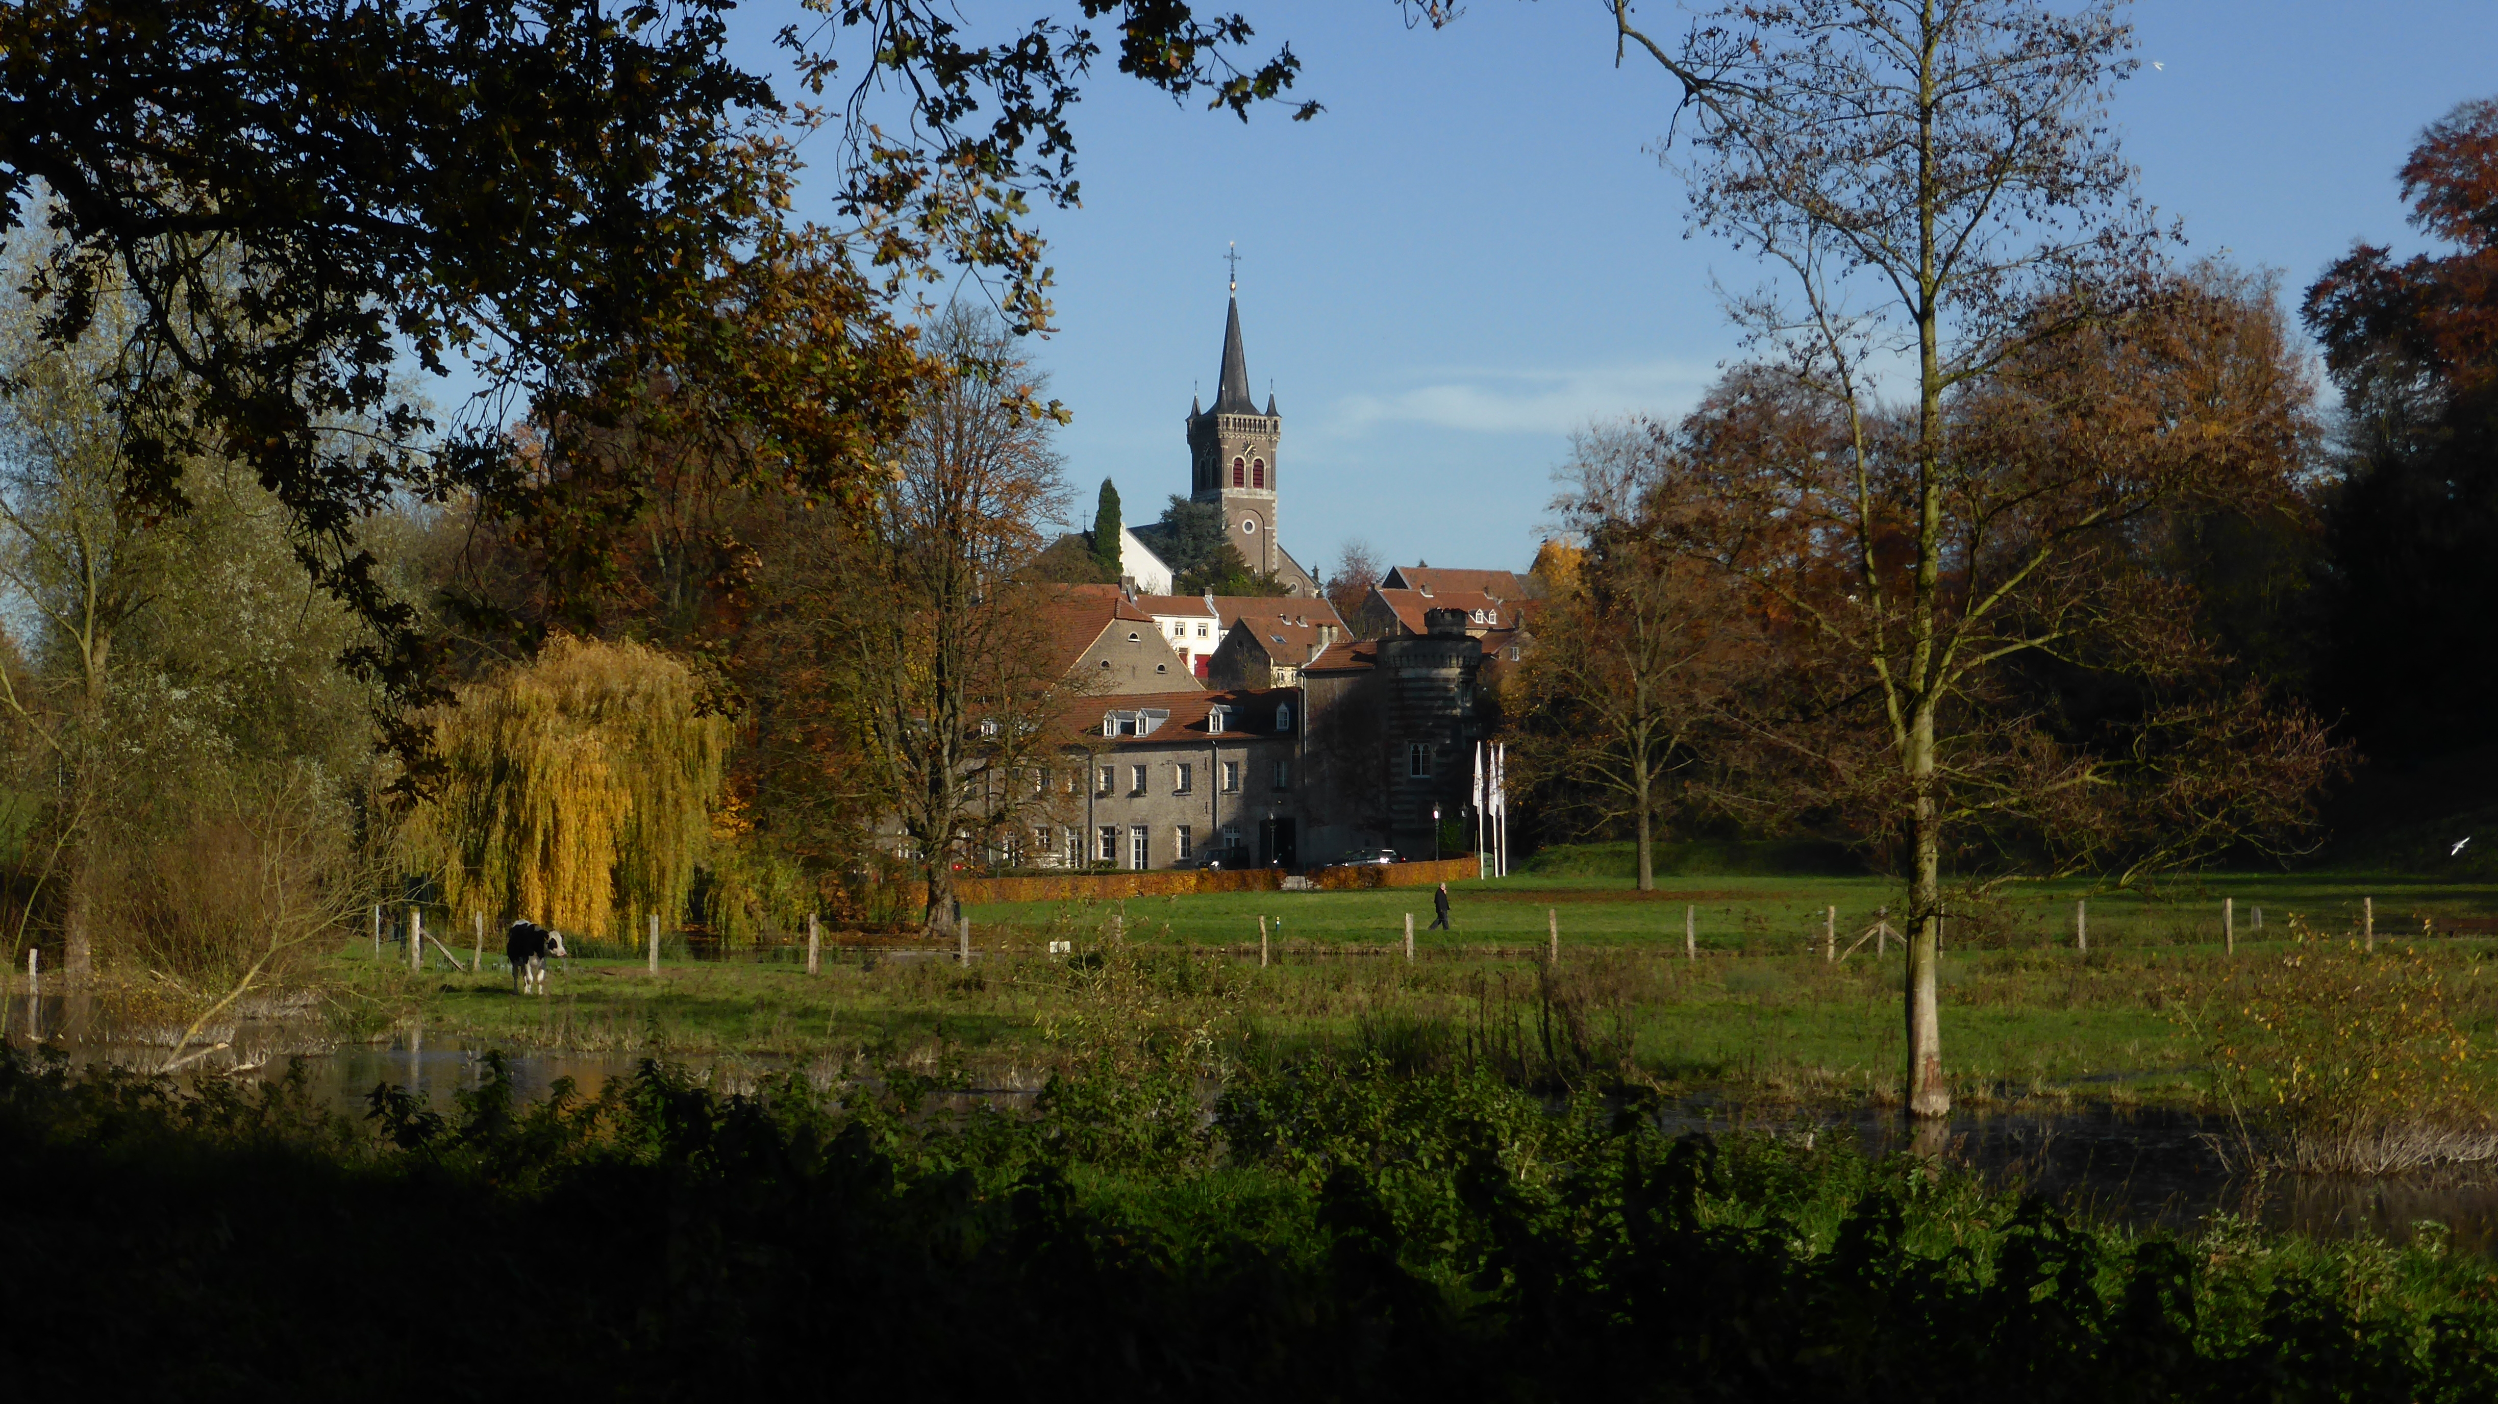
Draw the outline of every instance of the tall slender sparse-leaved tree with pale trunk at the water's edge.
[[[2163,502],[2278,482],[2286,445],[2243,405],[2161,395],[2191,362],[2166,310],[2136,315],[2178,290],[2103,122],[2133,67],[2113,0],[1739,2],[1679,40],[1611,7],[1621,52],[1681,90],[1666,162],[1691,222],[1779,270],[1736,305],[1769,355],[1721,410],[1811,427],[1796,452],[1699,457],[1719,505],[1694,497],[1676,537],[1871,700],[1908,879],[1906,1102],[1941,1117],[1936,932],[1953,749],[1996,717],[1981,685],[2028,650],[2123,650],[2161,597],[2093,562]]]

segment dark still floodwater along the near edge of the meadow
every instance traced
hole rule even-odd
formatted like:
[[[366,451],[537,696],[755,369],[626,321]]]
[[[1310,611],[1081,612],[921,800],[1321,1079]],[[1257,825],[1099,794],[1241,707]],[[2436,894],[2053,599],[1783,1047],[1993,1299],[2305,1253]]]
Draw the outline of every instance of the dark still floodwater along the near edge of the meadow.
[[[120,1064],[157,1069],[167,1062],[177,1032],[155,1037],[65,1039],[82,1019],[60,997],[27,1009],[25,997],[10,1002],[10,1042],[25,1044],[30,1029],[47,1047],[70,1054],[72,1064]],[[340,1112],[360,1114],[380,1084],[410,1087],[435,1107],[450,1109],[452,1097],[485,1079],[485,1054],[492,1044],[437,1037],[425,1029],[400,1029],[382,1042],[347,1044],[287,1017],[237,1019],[207,1029],[200,1062],[175,1077],[280,1077],[292,1059],[305,1062],[315,1097]],[[639,1052],[547,1052],[502,1049],[515,1089],[542,1099],[560,1079],[582,1092],[597,1092],[610,1077],[632,1077]],[[699,1079],[724,1092],[744,1092],[792,1072],[777,1057],[687,1057],[672,1054]],[[794,1067],[817,1084],[829,1084],[844,1069],[824,1062]],[[994,1087],[974,1087],[967,1102],[1024,1102],[1037,1079],[999,1074]],[[1209,1089],[1212,1107],[1212,1089]],[[2253,1219],[2273,1229],[2313,1237],[2383,1237],[2408,1242],[2421,1224],[2441,1224],[2458,1252],[2498,1257],[2498,1167],[2416,1172],[2401,1177],[2266,1177],[2231,1174],[2221,1147],[2231,1127],[2221,1117],[2138,1107],[2063,1107],[2051,1112],[1978,1112],[1953,1117],[1938,1134],[1911,1137],[1896,1112],[1856,1114],[1736,1112],[1724,1104],[1694,1102],[1666,1117],[1669,1132],[1734,1127],[1784,1134],[1844,1134],[1871,1154],[1916,1149],[1943,1154],[2003,1187],[2051,1194],[2093,1217],[2136,1227],[2193,1229],[2213,1214]],[[1911,1144],[1913,1142],[1913,1144]]]

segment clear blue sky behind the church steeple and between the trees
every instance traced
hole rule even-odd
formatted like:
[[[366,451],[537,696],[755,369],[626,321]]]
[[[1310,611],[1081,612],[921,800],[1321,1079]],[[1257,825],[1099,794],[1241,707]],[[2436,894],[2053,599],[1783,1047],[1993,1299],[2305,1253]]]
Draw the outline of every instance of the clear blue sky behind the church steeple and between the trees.
[[[1669,82],[1614,67],[1599,0],[1471,0],[1439,32],[1389,0],[1227,7],[1291,42],[1326,112],[1242,125],[1094,82],[1084,205],[1039,217],[1059,332],[1034,347],[1074,412],[1082,507],[1102,477],[1132,522],[1187,490],[1182,420],[1214,387],[1237,240],[1249,375],[1284,415],[1284,545],[1311,567],[1346,537],[1389,562],[1524,567],[1569,430],[1689,407],[1736,355],[1711,280],[1761,280],[1684,235],[1654,157]],[[2498,95],[2491,0],[2131,17],[2146,70],[2113,117],[2143,195],[2186,222],[2188,255],[2281,270],[2293,300],[2353,237],[2416,245],[2396,165],[2426,122]]]

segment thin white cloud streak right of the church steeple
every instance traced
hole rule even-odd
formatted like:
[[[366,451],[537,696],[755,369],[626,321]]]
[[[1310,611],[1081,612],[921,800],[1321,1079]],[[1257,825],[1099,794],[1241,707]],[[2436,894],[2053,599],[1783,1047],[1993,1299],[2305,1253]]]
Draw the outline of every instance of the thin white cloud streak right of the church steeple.
[[[1659,360],[1576,370],[1436,370],[1411,390],[1346,395],[1329,407],[1326,430],[1431,425],[1469,432],[1566,435],[1616,415],[1679,415],[1699,400],[1716,367]]]

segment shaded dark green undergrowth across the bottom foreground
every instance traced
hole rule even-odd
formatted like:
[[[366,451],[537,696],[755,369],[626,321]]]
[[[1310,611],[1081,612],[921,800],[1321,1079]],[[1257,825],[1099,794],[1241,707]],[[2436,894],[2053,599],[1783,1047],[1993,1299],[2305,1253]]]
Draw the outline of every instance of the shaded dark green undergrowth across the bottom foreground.
[[[1177,1087],[1177,1084],[1174,1084]],[[1102,1119],[1177,1129],[1117,1129]],[[1154,1147],[1139,1154],[1137,1147]],[[1471,1072],[952,1104],[647,1064],[362,1122],[0,1062],[27,1397],[2486,1399],[2498,1277],[2131,1239]]]

